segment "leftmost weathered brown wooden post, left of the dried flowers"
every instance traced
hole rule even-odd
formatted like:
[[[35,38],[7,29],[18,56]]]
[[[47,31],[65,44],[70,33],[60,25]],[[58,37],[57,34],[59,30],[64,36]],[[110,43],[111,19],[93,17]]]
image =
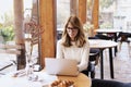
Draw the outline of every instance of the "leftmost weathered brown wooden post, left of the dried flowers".
[[[14,33],[15,44],[24,47],[23,35],[23,0],[14,0]],[[21,54],[16,55],[17,70],[25,67],[25,49],[21,49]]]

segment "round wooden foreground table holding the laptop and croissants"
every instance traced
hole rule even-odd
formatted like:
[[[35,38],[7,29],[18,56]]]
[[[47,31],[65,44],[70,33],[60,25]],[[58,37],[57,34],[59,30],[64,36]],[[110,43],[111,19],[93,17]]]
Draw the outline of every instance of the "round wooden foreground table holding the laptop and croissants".
[[[17,71],[19,72],[19,71]],[[0,85],[3,87],[48,87],[49,84],[59,79],[73,80],[75,87],[91,87],[92,80],[84,74],[80,73],[76,77],[48,75],[45,71],[35,72],[38,76],[36,80],[28,80],[26,75],[14,77],[15,72],[0,77]]]

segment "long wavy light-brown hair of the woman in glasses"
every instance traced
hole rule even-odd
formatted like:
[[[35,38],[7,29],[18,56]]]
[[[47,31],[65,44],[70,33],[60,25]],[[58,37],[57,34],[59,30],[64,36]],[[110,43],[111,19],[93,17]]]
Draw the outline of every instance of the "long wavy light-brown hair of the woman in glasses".
[[[71,38],[70,36],[68,35],[68,32],[67,32],[67,27],[69,25],[69,23],[73,26],[73,27],[76,27],[76,29],[79,30],[78,32],[78,35],[75,36],[74,38],[74,41],[75,41],[75,45],[78,47],[83,47],[84,44],[86,42],[86,38],[85,38],[85,34],[84,34],[84,29],[83,29],[83,26],[82,26],[82,23],[81,21],[79,20],[78,16],[75,15],[71,15],[67,23],[66,23],[66,26],[64,26],[64,29],[63,29],[63,33],[62,33],[62,45],[64,47],[70,47],[72,46],[71,44]]]

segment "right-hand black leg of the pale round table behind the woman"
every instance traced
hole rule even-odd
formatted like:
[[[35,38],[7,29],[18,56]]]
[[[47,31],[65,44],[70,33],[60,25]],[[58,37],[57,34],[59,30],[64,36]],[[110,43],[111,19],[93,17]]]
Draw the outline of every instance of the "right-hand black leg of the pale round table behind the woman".
[[[110,77],[114,78],[114,60],[111,48],[109,48],[109,64],[110,64]]]

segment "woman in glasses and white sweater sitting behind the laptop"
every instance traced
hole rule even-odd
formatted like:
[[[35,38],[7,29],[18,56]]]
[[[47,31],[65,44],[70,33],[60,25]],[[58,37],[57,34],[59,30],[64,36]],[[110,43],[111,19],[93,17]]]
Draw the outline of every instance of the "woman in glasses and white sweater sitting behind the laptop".
[[[90,44],[84,35],[83,26],[78,16],[70,16],[57,44],[58,59],[73,59],[78,61],[80,72],[87,70]]]

